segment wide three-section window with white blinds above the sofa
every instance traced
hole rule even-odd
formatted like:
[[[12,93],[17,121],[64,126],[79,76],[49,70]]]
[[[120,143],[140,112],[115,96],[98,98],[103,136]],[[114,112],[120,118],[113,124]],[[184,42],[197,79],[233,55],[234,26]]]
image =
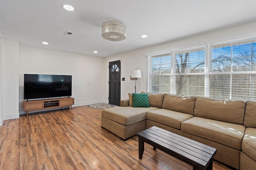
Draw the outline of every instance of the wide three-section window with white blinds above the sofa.
[[[153,93],[256,101],[256,43],[218,43],[147,56]]]

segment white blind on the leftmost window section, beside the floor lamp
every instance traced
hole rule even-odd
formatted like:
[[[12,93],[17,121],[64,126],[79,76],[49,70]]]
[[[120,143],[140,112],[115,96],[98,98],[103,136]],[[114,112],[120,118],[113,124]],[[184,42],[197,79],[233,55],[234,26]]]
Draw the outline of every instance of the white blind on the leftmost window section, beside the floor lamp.
[[[170,93],[171,54],[147,56],[147,92]]]

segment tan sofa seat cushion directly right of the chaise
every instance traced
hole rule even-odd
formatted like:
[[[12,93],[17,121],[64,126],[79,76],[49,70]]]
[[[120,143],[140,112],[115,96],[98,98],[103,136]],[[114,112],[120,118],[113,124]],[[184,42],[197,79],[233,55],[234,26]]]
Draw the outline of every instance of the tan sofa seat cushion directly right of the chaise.
[[[182,121],[188,120],[191,117],[193,117],[193,115],[180,113],[180,112],[168,110],[168,109],[157,109],[153,111],[148,111],[147,113],[147,119],[156,121],[163,125],[174,127],[179,130],[180,130]]]

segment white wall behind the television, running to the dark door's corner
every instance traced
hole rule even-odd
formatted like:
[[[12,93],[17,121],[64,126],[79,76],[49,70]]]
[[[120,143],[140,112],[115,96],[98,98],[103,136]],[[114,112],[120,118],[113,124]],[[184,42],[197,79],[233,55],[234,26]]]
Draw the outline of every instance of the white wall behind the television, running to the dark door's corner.
[[[104,59],[64,51],[20,45],[19,109],[24,101],[24,74],[72,75],[75,106],[104,101]]]

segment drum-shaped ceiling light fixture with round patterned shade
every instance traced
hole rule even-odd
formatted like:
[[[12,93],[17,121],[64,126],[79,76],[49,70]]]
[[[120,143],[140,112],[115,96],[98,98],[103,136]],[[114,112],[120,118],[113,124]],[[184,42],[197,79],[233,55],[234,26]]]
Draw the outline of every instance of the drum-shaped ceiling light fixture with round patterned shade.
[[[126,25],[119,21],[106,21],[102,24],[101,36],[109,41],[126,39]]]

